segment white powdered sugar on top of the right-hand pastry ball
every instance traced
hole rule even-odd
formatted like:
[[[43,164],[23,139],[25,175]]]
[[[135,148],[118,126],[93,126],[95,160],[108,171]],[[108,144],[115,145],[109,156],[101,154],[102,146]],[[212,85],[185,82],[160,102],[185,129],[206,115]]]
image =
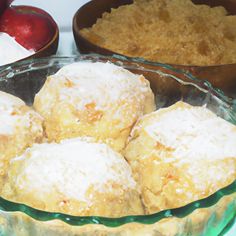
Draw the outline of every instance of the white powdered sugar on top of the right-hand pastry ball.
[[[170,110],[145,130],[157,142],[173,149],[174,159],[181,163],[236,158],[236,126],[206,107]]]

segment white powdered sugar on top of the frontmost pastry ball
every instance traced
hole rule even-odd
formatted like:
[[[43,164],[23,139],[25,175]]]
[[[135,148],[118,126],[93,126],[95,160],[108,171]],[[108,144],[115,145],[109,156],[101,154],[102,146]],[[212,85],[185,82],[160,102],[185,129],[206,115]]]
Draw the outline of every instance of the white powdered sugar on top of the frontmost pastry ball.
[[[112,184],[124,191],[135,189],[131,169],[124,158],[105,144],[88,138],[63,140],[61,143],[35,144],[11,161],[18,165],[14,183],[19,191],[62,194],[69,199],[89,202],[87,191],[110,192]],[[41,196],[41,197],[40,197]]]

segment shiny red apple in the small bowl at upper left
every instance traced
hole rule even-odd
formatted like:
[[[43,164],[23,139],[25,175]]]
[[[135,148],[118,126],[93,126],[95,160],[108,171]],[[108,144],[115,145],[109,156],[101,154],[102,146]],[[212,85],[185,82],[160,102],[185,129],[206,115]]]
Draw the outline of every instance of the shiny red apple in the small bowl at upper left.
[[[38,51],[53,38],[56,23],[42,9],[32,6],[10,6],[0,17],[0,32],[14,37],[26,49]]]

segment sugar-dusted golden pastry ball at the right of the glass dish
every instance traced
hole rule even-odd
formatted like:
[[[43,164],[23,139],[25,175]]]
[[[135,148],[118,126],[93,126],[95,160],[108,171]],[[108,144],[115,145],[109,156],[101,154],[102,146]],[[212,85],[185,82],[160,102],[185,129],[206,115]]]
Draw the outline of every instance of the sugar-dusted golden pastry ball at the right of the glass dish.
[[[178,102],[137,122],[125,157],[147,213],[180,207],[235,180],[236,126]]]

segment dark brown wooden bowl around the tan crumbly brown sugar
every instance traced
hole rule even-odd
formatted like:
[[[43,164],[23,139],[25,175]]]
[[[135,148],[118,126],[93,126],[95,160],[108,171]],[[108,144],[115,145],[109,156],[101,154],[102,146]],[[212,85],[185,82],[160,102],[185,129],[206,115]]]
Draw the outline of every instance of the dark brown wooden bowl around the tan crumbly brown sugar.
[[[91,27],[104,12],[110,12],[111,8],[118,8],[121,5],[131,4],[132,2],[132,0],[92,0],[83,5],[73,18],[73,33],[78,50],[81,53],[117,54],[89,42],[80,34],[80,30]],[[207,4],[212,7],[223,6],[229,14],[236,15],[236,0],[193,0],[193,2]],[[236,63],[211,66],[172,66],[190,72],[199,79],[208,80],[214,87],[223,90],[228,96],[236,97]]]

